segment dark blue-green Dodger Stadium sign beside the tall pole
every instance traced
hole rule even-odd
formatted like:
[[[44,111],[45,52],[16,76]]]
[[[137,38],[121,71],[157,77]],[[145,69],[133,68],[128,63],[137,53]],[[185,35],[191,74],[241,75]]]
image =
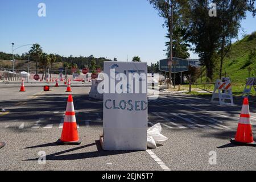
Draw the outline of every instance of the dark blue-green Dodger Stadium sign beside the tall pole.
[[[170,59],[163,59],[159,61],[160,71],[169,72],[168,61]],[[172,58],[172,73],[180,73],[188,71],[188,60],[180,59],[178,57]]]

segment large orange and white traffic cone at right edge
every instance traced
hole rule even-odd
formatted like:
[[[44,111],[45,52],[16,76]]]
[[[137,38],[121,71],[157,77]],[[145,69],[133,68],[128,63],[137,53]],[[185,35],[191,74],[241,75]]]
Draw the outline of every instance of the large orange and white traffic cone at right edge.
[[[251,129],[250,122],[249,101],[247,97],[243,100],[243,106],[237,127],[236,137],[234,139],[232,138],[230,142],[234,144],[256,146],[256,143],[253,141],[253,131]]]

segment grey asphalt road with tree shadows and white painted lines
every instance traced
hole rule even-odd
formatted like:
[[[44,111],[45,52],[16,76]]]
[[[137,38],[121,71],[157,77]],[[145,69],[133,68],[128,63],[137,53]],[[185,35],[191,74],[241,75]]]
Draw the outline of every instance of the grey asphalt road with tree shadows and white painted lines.
[[[241,104],[212,105],[208,98],[162,93],[148,101],[148,126],[160,122],[166,142],[148,151],[102,151],[102,101],[89,100],[89,84],[72,84],[80,146],[56,146],[68,93],[66,86],[0,85],[1,170],[255,170],[256,148],[234,146]],[[53,86],[54,84],[50,84]],[[256,108],[251,107],[256,136]],[[46,164],[38,163],[39,152]],[[209,164],[209,152],[217,164]]]

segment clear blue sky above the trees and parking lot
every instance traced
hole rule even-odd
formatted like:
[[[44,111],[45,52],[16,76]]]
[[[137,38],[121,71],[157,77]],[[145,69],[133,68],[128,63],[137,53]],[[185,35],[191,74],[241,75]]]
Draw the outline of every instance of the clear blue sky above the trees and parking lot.
[[[45,18],[38,16],[40,2],[46,3]],[[15,46],[39,43],[44,52],[63,56],[126,61],[127,55],[129,60],[138,55],[148,63],[165,58],[167,30],[146,0],[1,0],[0,22],[3,52],[11,53],[14,42]],[[247,34],[256,31],[256,18],[248,15],[242,27]]]

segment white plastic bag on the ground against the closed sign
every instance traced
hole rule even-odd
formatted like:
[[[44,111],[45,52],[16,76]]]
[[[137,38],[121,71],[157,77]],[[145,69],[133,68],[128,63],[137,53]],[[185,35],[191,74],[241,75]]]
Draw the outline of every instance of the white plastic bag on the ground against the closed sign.
[[[161,134],[162,127],[160,123],[152,126],[150,129],[147,130],[147,147],[148,148],[157,148],[156,144],[159,142],[164,142],[168,140],[167,137]]]

